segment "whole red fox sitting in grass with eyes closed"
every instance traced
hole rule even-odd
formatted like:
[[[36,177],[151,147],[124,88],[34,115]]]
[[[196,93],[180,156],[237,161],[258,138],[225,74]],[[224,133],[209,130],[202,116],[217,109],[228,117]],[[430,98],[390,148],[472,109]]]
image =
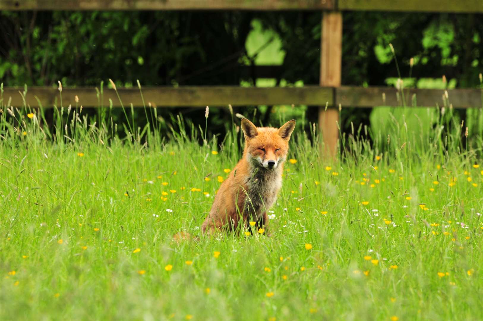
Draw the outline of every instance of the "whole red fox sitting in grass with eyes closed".
[[[221,184],[201,226],[202,233],[244,230],[254,221],[257,229],[264,228],[268,234],[267,211],[282,186],[288,141],[294,128],[294,119],[279,129],[257,128],[250,120],[241,119],[246,141],[243,158]]]

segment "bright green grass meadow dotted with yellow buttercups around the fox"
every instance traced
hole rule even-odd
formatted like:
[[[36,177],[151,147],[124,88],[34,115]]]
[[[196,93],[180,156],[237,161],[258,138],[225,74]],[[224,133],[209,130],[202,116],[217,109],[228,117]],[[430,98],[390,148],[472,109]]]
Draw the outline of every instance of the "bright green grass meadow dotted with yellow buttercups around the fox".
[[[387,119],[376,147],[356,129],[337,162],[296,130],[271,237],[177,244],[240,158],[236,118],[200,145],[180,117],[169,137],[119,139],[110,121],[71,121],[76,107],[52,133],[42,113],[2,109],[1,320],[483,319],[482,148],[459,123],[444,134],[452,111]]]

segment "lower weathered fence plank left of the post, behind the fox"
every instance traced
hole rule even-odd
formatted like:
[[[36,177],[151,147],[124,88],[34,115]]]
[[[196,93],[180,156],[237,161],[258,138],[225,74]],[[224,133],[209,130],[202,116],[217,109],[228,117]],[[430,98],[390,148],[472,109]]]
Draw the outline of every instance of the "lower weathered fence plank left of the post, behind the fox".
[[[4,103],[12,97],[12,105],[23,105],[19,90],[23,88],[4,88]],[[136,107],[142,107],[141,95],[138,88],[118,89],[125,106],[131,102]],[[206,87],[145,87],[142,88],[144,101],[151,102],[158,107],[204,107],[209,106],[245,106],[265,104],[308,104],[320,105],[332,103],[332,89],[318,86],[302,88],[275,87],[275,88],[245,88],[231,86]],[[62,90],[62,104],[75,106],[75,95],[79,97],[79,104],[84,107],[97,107],[98,98],[95,88],[64,88]],[[30,87],[27,92],[27,103],[31,107],[38,107],[35,96],[42,102],[43,107],[52,107],[56,102],[59,105],[60,95],[56,88]],[[120,107],[119,100],[113,89],[104,89],[102,104],[109,106],[109,99],[114,107]]]

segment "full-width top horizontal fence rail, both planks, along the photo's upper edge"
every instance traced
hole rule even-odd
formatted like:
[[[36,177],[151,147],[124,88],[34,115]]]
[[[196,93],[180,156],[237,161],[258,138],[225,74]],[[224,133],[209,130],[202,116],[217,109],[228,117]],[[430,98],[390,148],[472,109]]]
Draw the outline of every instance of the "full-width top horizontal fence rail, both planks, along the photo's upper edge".
[[[482,0],[0,0],[0,10],[355,10],[483,13]]]

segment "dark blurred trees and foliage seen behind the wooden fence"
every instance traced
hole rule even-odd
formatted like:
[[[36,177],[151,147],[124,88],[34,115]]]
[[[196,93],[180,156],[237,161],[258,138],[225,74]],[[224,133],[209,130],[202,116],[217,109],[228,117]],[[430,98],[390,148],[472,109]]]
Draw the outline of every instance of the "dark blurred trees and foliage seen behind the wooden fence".
[[[479,88],[481,21],[483,15],[471,14],[344,12],[342,85],[394,86],[391,43],[405,87]],[[0,80],[4,86],[57,86],[60,80],[64,87],[99,87],[112,78],[118,88],[136,86],[136,79],[143,86],[316,85],[320,29],[320,12],[1,12]],[[198,108],[157,113],[180,111],[196,127],[204,125]],[[280,112],[304,117],[306,129],[317,120],[316,106],[247,106],[235,112],[265,125],[278,125]],[[395,109],[343,106],[342,131],[350,131],[351,122],[355,128],[375,126],[390,112]],[[472,112],[457,113],[465,119]],[[142,126],[144,112],[136,113]],[[428,117],[426,110],[396,113]],[[113,116],[124,119],[121,110]],[[227,109],[211,109],[210,131],[223,133],[228,120]]]

